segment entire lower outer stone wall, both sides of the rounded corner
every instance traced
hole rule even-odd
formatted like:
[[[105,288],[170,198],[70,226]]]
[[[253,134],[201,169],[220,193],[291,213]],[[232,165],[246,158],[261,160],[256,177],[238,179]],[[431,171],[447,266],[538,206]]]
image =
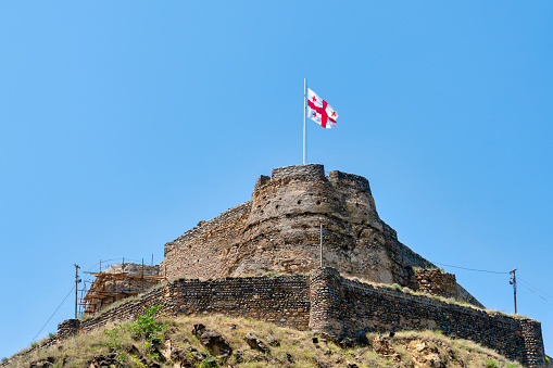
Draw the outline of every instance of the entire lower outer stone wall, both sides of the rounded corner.
[[[174,316],[221,313],[251,317],[297,329],[310,328],[337,340],[365,332],[440,330],[473,340],[528,367],[544,364],[538,321],[361,283],[341,277],[330,267],[317,268],[309,277],[178,279],[80,321],[80,330],[134,319],[153,305],[162,305],[160,313]],[[67,329],[73,325],[60,323],[60,335],[71,334]]]

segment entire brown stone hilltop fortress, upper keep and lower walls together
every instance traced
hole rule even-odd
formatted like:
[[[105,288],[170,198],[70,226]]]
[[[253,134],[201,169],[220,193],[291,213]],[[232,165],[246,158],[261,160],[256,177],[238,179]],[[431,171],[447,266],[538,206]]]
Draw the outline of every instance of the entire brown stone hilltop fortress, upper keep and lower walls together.
[[[162,305],[175,316],[251,317],[342,342],[372,331],[432,329],[545,367],[540,322],[486,310],[454,275],[398,241],[378,216],[367,179],[326,176],[318,164],[260,176],[251,201],[166,243],[163,262],[149,272],[166,281],[117,306],[105,308],[104,300],[86,320],[63,321],[58,339]]]

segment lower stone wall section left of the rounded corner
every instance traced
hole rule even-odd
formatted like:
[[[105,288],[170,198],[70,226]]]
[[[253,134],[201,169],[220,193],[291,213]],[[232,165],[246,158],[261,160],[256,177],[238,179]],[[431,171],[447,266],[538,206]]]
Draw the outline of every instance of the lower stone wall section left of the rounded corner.
[[[169,315],[221,313],[306,329],[310,313],[309,277],[287,275],[206,281],[178,279],[151,290],[137,300],[127,301],[96,317],[81,320],[79,327],[87,332],[108,323],[134,319],[154,305],[162,306],[159,313]],[[61,334],[71,333],[67,332],[67,323],[59,325]]]

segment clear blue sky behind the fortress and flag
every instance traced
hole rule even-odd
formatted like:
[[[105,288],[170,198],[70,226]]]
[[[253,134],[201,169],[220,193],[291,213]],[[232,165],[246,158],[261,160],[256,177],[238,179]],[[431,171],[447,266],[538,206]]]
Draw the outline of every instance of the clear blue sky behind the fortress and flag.
[[[2,2],[0,357],[74,263],[159,263],[300,164],[303,78],[340,115],[309,123],[309,162],[366,177],[426,258],[517,267],[551,352],[552,17],[550,0]],[[514,312],[508,275],[444,268]],[[38,339],[72,314],[70,296]]]

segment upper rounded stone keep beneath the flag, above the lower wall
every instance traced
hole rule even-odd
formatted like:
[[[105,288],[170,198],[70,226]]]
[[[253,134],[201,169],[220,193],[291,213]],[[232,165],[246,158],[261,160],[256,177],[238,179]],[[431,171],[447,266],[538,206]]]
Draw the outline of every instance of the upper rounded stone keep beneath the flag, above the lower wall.
[[[318,164],[262,175],[251,201],[166,243],[162,267],[169,277],[191,278],[306,274],[321,264],[321,221],[324,265],[344,275],[409,285],[412,267],[433,267],[379,218],[367,179],[337,170],[326,176]]]

